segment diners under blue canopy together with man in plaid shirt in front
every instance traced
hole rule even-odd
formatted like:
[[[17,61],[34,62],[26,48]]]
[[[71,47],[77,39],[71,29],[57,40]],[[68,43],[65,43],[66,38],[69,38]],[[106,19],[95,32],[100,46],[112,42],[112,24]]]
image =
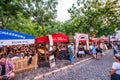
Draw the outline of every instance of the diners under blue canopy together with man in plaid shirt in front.
[[[0,80],[14,80],[15,65],[12,60],[34,56],[34,45],[12,45],[0,47]],[[31,64],[28,61],[28,64]]]

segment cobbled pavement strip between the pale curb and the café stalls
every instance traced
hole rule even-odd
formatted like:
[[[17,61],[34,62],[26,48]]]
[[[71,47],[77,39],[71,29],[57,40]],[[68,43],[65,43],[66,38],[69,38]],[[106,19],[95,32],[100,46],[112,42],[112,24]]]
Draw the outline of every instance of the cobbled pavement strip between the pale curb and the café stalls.
[[[74,62],[79,62],[81,60],[87,59],[91,57],[90,55],[86,55],[84,58],[75,58]],[[62,68],[70,64],[69,60],[64,59],[56,59],[56,69]],[[36,70],[25,71],[19,74],[16,74],[15,80],[34,80],[34,77],[39,76],[41,74],[51,72],[56,69],[50,69],[49,63],[40,62],[39,67]]]

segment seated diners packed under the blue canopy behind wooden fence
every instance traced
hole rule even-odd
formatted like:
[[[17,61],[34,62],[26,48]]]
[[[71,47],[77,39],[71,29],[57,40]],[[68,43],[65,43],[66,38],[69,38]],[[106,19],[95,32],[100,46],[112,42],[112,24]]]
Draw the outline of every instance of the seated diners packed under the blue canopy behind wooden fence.
[[[34,45],[12,45],[0,47],[0,56],[10,59],[17,59],[21,57],[29,57],[34,55]]]

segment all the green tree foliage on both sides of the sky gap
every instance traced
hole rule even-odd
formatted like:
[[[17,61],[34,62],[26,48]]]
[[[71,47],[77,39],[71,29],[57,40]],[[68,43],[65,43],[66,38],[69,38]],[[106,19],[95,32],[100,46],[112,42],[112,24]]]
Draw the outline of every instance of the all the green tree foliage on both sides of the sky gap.
[[[107,36],[120,29],[119,3],[119,0],[78,0],[68,10],[71,19],[63,23],[55,20],[57,0],[0,0],[0,29],[36,37],[76,32]]]

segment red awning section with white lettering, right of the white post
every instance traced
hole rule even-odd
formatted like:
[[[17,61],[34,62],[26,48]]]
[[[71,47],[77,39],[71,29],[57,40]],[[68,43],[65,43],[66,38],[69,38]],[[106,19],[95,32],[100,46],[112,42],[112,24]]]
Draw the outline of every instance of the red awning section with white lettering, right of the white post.
[[[53,34],[53,42],[69,42],[69,38],[65,34]]]

